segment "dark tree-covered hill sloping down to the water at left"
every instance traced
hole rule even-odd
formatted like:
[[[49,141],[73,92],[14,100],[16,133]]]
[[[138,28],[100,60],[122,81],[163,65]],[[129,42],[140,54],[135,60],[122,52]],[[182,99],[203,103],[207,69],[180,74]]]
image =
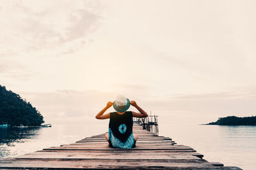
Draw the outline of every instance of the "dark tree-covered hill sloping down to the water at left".
[[[0,85],[0,125],[6,123],[37,126],[44,123],[44,117],[26,99]]]

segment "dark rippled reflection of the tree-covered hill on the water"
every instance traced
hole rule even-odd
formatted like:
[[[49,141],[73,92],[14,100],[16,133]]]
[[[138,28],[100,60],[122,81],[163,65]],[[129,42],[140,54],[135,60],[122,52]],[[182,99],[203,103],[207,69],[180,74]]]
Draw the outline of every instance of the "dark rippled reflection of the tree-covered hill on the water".
[[[15,146],[17,143],[24,143],[29,139],[37,138],[40,136],[42,127],[7,127],[0,128],[0,157],[8,157],[10,147]]]

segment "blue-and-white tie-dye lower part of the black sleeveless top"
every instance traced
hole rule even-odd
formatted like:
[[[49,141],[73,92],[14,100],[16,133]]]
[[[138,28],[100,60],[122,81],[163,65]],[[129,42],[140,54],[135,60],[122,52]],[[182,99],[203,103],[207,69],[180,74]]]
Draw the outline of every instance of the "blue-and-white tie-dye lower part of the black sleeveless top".
[[[109,139],[111,141],[111,144],[115,148],[132,148],[132,145],[134,144],[134,141],[135,141],[133,133],[131,133],[131,135],[129,136],[129,138],[127,138],[127,140],[125,142],[122,142],[122,141],[120,141],[120,139],[116,138],[113,135],[110,128],[109,128],[109,131],[108,131],[108,135],[109,135]]]

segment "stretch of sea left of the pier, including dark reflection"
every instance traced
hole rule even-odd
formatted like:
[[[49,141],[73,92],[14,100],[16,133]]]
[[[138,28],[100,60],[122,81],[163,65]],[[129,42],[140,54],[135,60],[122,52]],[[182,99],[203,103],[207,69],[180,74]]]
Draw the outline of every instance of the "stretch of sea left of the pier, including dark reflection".
[[[17,157],[52,146],[75,143],[100,134],[106,125],[52,125],[52,127],[0,129],[0,158]]]

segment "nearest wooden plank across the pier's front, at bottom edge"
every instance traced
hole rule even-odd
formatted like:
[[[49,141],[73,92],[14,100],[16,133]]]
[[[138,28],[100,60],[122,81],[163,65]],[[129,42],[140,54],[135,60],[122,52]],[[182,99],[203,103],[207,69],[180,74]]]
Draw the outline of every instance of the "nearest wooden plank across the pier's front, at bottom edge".
[[[168,160],[159,160],[159,162],[150,160],[111,160],[102,161],[102,159],[93,160],[0,160],[1,168],[76,168],[76,169],[220,169],[218,166],[212,166],[209,162],[168,162]],[[221,169],[225,169],[221,167]],[[228,169],[239,169],[238,167],[228,167]]]

